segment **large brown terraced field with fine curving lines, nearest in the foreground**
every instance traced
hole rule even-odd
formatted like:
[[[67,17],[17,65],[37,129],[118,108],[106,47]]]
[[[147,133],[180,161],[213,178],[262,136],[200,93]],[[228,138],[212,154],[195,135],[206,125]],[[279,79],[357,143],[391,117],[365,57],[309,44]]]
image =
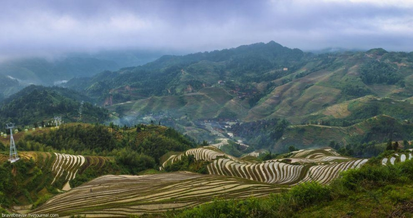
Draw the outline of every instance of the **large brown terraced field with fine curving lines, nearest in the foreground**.
[[[190,172],[106,175],[51,198],[31,213],[127,216],[192,207],[217,197],[246,198],[281,190],[278,185],[238,177]]]

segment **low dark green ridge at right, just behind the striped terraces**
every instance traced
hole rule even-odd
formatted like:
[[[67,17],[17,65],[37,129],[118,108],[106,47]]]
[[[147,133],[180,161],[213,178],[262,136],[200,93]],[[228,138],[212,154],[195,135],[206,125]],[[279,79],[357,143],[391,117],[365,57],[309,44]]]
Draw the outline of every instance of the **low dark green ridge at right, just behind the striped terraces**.
[[[382,142],[392,139],[410,139],[413,125],[389,116],[379,115],[347,127],[325,125],[292,125],[286,128],[281,139],[274,143],[274,150],[286,151],[289,145],[297,148],[329,146],[331,141],[342,146],[350,143]]]

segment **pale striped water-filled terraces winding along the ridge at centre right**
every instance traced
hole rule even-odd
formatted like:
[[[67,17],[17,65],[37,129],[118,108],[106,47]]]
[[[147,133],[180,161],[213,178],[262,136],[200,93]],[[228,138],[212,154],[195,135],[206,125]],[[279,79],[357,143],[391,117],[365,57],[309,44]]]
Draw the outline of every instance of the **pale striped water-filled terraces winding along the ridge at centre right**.
[[[173,164],[184,155],[194,155],[196,160],[209,161],[209,174],[282,185],[294,185],[303,181],[326,184],[337,177],[339,172],[358,168],[367,162],[367,159],[343,157],[330,150],[300,150],[288,158],[252,163],[222,153],[215,147],[206,146],[171,155],[162,166]]]

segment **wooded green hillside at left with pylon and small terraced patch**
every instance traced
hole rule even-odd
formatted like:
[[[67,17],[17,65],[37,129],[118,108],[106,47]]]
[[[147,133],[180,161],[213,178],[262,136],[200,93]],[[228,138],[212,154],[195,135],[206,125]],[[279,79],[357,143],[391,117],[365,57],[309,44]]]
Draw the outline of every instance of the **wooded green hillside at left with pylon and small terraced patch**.
[[[9,208],[28,204],[35,208],[102,175],[156,171],[167,152],[195,146],[175,130],[154,125],[70,123],[15,133],[14,139],[21,159],[12,164],[10,137],[0,138],[0,202]]]

